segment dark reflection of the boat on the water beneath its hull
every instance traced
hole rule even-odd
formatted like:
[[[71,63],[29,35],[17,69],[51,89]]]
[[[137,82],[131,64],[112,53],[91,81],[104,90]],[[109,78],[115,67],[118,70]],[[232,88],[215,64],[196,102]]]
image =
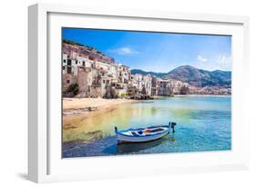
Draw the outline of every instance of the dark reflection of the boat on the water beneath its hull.
[[[159,146],[159,144],[166,143],[168,141],[174,141],[173,135],[167,135],[163,138],[147,143],[118,143],[117,154],[137,153],[139,151]]]

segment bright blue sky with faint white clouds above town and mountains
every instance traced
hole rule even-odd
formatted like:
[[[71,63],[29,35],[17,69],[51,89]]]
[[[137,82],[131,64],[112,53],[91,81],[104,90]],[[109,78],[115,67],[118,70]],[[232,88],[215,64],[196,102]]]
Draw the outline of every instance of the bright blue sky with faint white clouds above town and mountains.
[[[180,65],[231,70],[231,36],[63,28],[63,38],[93,46],[131,69],[167,73]]]

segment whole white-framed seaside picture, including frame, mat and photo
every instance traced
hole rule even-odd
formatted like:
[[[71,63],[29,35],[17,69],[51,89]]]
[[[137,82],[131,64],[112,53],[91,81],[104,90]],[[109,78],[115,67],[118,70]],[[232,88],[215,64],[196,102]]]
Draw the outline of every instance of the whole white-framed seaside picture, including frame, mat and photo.
[[[247,17],[28,13],[31,181],[248,168]]]

